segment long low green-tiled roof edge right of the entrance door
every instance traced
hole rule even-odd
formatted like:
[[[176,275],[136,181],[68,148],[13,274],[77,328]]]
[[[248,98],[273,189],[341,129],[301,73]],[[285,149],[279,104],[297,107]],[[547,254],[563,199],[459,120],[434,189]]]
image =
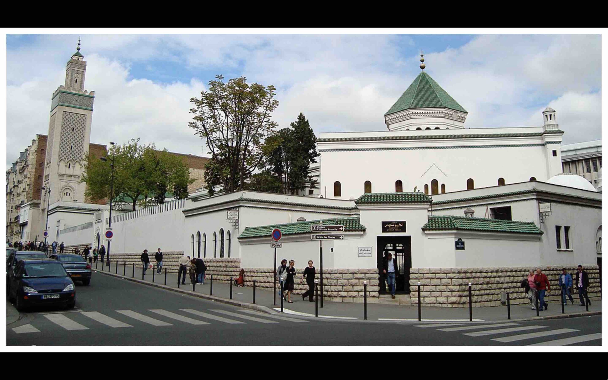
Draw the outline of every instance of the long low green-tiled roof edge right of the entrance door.
[[[423,231],[438,230],[472,230],[489,232],[536,233],[542,235],[542,230],[534,222],[513,220],[467,218],[466,216],[430,216],[429,221],[422,227]]]

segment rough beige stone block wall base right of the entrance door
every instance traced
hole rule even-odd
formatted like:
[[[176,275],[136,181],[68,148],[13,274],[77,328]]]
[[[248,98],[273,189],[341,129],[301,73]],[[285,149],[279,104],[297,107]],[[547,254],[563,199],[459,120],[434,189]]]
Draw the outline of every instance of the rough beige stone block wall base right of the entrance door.
[[[545,296],[547,302],[558,301],[560,289],[558,276],[564,266],[541,267],[549,279],[551,291]],[[565,267],[576,280],[576,267]],[[412,268],[410,269],[410,297],[412,305],[418,304],[418,286],[420,281],[420,302],[427,306],[443,306],[451,308],[468,308],[469,282],[471,285],[472,302],[474,307],[503,305],[502,293],[509,293],[511,305],[529,303],[527,294],[520,287],[523,278],[528,277],[528,267],[511,268]],[[587,266],[590,300],[601,299],[599,287],[598,266]],[[574,285],[572,294],[575,303],[578,302],[578,291]],[[506,294],[505,294],[506,299]]]

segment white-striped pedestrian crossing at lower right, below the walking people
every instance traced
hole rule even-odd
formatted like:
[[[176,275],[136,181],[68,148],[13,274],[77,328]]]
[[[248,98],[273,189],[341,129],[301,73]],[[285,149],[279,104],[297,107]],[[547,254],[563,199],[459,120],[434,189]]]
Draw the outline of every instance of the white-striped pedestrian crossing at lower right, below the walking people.
[[[487,325],[471,325],[466,323],[431,323],[425,325],[415,325],[415,327],[434,328],[438,331],[444,331],[447,333],[457,332],[471,337],[491,337],[496,335],[502,335],[500,337],[494,337],[489,339],[501,343],[520,342],[527,340],[527,343],[529,343],[527,345],[530,346],[564,346],[569,344],[592,342],[593,340],[602,339],[601,333],[583,334],[559,338],[559,335],[561,334],[572,335],[572,333],[576,333],[579,330],[573,328],[558,328],[554,330],[545,330],[549,327],[542,325],[522,325],[521,323],[491,323]],[[559,339],[544,340],[546,337],[550,337],[550,339]],[[536,342],[534,339],[541,339],[542,341]]]

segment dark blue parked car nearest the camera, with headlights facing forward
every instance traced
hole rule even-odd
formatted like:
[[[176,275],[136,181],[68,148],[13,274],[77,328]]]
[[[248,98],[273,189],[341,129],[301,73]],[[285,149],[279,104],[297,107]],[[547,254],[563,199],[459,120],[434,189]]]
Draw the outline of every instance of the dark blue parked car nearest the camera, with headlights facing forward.
[[[20,260],[13,271],[8,293],[17,310],[47,305],[71,309],[76,305],[74,282],[57,260]]]

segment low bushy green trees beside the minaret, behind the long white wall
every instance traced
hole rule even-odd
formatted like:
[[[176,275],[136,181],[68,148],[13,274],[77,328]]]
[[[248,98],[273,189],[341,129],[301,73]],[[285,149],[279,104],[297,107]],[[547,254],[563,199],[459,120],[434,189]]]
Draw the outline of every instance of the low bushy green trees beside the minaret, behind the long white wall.
[[[133,211],[138,201],[144,207],[149,199],[164,202],[167,192],[178,199],[186,198],[188,184],[195,181],[190,178],[187,166],[180,157],[154,148],[153,143],[140,145],[139,139],[131,139],[123,145],[112,145],[105,162],[92,155],[86,157],[80,179],[86,183],[85,196],[91,201],[110,197],[113,159],[114,200],[128,201]]]

